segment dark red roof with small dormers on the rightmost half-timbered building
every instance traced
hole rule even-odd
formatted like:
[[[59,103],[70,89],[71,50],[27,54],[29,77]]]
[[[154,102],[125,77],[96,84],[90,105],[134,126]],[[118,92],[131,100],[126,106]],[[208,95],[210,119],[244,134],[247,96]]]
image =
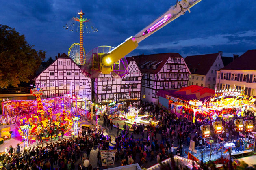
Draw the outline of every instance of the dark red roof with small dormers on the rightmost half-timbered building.
[[[169,57],[182,58],[179,53],[160,53],[160,54],[150,54],[150,55],[137,55],[133,56],[135,62],[139,66],[139,70],[142,73],[151,73],[158,74],[161,68],[165,65]],[[141,65],[144,65],[144,68],[141,68]],[[147,68],[147,65],[150,67]],[[156,69],[153,69],[152,66],[156,65]]]

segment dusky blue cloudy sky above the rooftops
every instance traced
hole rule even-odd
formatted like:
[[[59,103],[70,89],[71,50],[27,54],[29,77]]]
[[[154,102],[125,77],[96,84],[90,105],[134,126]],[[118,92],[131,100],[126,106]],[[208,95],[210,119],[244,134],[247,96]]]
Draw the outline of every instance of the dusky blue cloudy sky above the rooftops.
[[[63,28],[82,9],[98,32],[84,34],[85,51],[100,45],[116,47],[165,13],[176,0],[17,0],[2,1],[0,24],[15,28],[46,57],[68,52],[79,43],[79,31]],[[256,49],[256,1],[202,0],[139,43],[128,56],[177,52],[183,57],[223,51],[241,55]]]

